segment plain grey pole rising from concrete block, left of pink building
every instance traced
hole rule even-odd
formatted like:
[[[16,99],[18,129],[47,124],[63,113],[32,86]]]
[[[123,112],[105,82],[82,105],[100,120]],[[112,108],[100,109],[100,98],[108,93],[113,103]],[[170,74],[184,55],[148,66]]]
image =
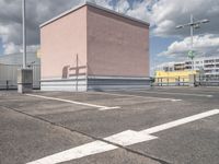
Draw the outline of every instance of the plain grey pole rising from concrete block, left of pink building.
[[[22,0],[22,22],[23,22],[23,69],[26,68],[26,13],[25,0]]]

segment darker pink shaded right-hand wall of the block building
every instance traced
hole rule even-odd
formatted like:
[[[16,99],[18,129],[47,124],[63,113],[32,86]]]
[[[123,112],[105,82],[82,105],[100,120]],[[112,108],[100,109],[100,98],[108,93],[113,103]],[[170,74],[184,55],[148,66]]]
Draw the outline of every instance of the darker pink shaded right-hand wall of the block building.
[[[148,25],[88,7],[88,74],[149,77],[148,38]]]

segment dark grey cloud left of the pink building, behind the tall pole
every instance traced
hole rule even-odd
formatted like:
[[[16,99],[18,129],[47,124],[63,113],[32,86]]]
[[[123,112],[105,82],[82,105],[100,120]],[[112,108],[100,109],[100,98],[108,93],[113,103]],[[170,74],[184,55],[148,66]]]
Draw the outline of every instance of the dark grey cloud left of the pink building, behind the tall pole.
[[[39,24],[79,4],[81,0],[27,0],[26,33],[27,49],[39,44]],[[0,0],[0,37],[4,54],[21,51],[22,1]],[[3,35],[2,35],[3,33]]]

